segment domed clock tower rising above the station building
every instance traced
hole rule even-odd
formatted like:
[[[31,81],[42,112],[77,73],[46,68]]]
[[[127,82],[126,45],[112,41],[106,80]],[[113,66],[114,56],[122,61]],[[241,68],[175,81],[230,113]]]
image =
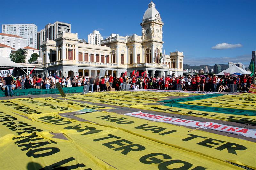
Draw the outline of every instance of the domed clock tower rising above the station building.
[[[157,57],[163,47],[163,31],[161,16],[155,4],[151,1],[148,4],[148,9],[145,11],[142,23],[142,46],[144,50],[145,63],[157,63]],[[150,55],[148,55],[150,53]]]

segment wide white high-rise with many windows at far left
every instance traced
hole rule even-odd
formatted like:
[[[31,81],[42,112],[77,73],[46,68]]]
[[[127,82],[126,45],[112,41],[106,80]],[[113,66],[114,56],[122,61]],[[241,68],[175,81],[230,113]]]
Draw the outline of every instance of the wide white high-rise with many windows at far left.
[[[37,26],[35,24],[2,24],[2,33],[26,38],[26,46],[37,48]]]

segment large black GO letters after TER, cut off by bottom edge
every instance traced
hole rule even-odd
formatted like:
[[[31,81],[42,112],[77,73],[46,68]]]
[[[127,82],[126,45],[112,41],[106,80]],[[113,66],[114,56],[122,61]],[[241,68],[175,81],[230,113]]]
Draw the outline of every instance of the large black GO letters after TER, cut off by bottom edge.
[[[182,161],[182,160],[168,160],[168,161],[164,161],[161,159],[156,158],[156,156],[163,156],[163,159],[172,159],[171,156],[164,154],[164,153],[150,153],[148,155],[144,155],[140,158],[140,162],[144,163],[144,164],[159,164],[158,165],[158,169],[159,170],[167,170],[169,169],[167,166],[172,165],[172,164],[176,164],[174,167],[176,168],[172,168],[172,169],[180,169],[180,170],[185,170],[185,169],[189,169],[193,166],[193,164],[186,162],[186,161]],[[148,160],[147,160],[148,159]],[[179,167],[177,167],[179,166]],[[202,166],[196,166],[195,168],[193,168],[192,170],[205,170],[206,168],[202,167]]]

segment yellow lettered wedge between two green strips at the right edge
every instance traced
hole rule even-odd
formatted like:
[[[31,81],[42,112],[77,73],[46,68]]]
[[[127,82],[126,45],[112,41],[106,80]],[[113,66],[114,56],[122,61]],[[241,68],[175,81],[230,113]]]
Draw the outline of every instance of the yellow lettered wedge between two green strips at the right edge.
[[[256,111],[256,95],[223,95],[202,100],[180,102],[182,104],[210,106],[220,108],[233,108]]]

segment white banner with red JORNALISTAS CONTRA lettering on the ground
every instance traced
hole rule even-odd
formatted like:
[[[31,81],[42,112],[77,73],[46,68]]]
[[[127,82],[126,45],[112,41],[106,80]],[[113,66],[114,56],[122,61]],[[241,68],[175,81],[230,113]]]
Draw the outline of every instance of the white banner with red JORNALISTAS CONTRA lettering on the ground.
[[[228,125],[223,125],[223,124],[218,124],[213,122],[200,122],[200,121],[194,121],[194,120],[188,120],[188,119],[181,119],[178,117],[168,117],[168,116],[154,115],[154,114],[148,114],[143,112],[132,112],[132,113],[126,113],[124,115],[148,119],[153,122],[164,122],[164,123],[184,125],[184,126],[190,126],[190,127],[196,127],[196,128],[200,127],[203,129],[212,129],[212,130],[217,130],[217,131],[222,131],[227,133],[233,133],[236,135],[256,138],[256,129],[239,128],[235,126],[228,126]]]

